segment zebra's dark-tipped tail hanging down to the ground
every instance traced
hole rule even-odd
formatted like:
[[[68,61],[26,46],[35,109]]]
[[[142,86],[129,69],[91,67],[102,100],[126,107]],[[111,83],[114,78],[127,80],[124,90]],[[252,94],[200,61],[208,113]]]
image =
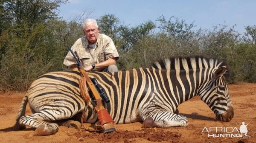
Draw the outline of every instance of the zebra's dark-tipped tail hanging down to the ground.
[[[23,99],[22,99],[22,101],[20,103],[19,113],[17,115],[15,125],[12,126],[12,127],[5,128],[5,129],[0,129],[0,131],[2,131],[2,132],[9,132],[9,131],[18,131],[18,130],[26,129],[26,126],[21,125],[19,123],[19,120],[20,120],[20,118],[22,116],[25,115],[26,104],[27,103],[28,103],[28,93],[26,93],[26,95],[23,97]]]

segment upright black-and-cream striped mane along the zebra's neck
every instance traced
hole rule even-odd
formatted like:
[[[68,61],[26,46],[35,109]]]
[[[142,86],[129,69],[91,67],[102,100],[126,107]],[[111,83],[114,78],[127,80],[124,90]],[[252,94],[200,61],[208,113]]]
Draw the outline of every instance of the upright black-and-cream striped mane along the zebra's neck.
[[[196,69],[199,68],[199,64],[202,67],[226,67],[227,64],[216,58],[205,58],[203,56],[190,56],[190,57],[171,57],[160,59],[157,62],[151,64],[152,69],[166,69],[166,70],[184,70],[184,69]]]

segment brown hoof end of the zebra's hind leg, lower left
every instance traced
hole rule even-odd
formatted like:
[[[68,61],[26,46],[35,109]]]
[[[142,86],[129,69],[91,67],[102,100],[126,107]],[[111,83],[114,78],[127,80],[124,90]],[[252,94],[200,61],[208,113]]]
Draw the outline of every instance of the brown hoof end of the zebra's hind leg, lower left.
[[[34,136],[45,136],[45,135],[53,135],[57,132],[52,126],[49,125],[40,125],[35,129]]]

